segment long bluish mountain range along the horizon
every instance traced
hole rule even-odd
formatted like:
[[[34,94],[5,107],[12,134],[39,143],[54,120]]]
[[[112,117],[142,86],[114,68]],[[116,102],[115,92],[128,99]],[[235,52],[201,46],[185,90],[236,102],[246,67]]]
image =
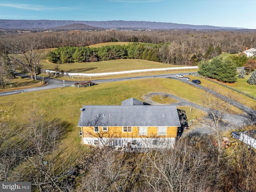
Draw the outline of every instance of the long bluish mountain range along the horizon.
[[[0,20],[0,30],[247,30],[246,28],[148,21]]]

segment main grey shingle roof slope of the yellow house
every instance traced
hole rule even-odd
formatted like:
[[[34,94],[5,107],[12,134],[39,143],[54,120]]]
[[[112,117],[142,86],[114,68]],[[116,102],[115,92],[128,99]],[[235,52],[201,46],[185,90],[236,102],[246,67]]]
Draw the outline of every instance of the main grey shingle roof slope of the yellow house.
[[[78,126],[180,126],[176,106],[87,106]]]

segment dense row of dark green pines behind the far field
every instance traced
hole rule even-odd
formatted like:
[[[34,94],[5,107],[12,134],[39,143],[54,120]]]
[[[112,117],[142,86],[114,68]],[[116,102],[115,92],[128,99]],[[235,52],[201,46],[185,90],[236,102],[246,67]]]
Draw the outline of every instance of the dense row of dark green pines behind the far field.
[[[132,43],[128,45],[107,45],[99,48],[90,47],[58,47],[47,55],[53,63],[95,62],[114,59],[144,59],[160,62],[158,47],[149,43]]]

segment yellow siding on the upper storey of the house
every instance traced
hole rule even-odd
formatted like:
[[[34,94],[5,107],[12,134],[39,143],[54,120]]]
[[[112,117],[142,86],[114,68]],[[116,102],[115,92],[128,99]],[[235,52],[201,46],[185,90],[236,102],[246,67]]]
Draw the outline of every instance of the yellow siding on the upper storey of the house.
[[[105,137],[105,138],[141,138],[141,137],[168,137],[176,138],[178,127],[167,127],[166,135],[158,135],[157,127],[148,127],[147,135],[139,135],[139,128],[132,127],[132,132],[123,132],[123,127],[108,127],[108,131],[103,131],[99,126],[99,133],[94,133],[94,127],[82,127],[83,137]]]

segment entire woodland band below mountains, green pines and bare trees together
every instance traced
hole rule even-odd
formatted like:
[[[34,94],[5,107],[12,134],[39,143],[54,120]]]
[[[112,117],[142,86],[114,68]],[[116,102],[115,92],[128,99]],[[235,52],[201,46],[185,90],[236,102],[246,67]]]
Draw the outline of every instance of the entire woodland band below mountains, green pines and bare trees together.
[[[48,59],[54,63],[140,58],[166,64],[198,65],[202,60],[214,58],[222,52],[238,53],[245,50],[245,46],[255,46],[254,36],[254,33],[202,31],[0,33],[0,52],[9,57],[6,59],[6,56],[1,56],[0,83],[4,88],[10,80],[9,73],[12,74],[15,68],[28,72],[31,79],[36,80],[40,73],[40,60],[46,57],[44,48],[58,47],[48,54]],[[230,38],[234,41],[226,42]],[[127,46],[88,47],[90,44],[110,41],[135,43]],[[255,60],[248,60],[246,56],[234,55],[230,60],[238,67],[246,66],[249,72],[255,69]]]

